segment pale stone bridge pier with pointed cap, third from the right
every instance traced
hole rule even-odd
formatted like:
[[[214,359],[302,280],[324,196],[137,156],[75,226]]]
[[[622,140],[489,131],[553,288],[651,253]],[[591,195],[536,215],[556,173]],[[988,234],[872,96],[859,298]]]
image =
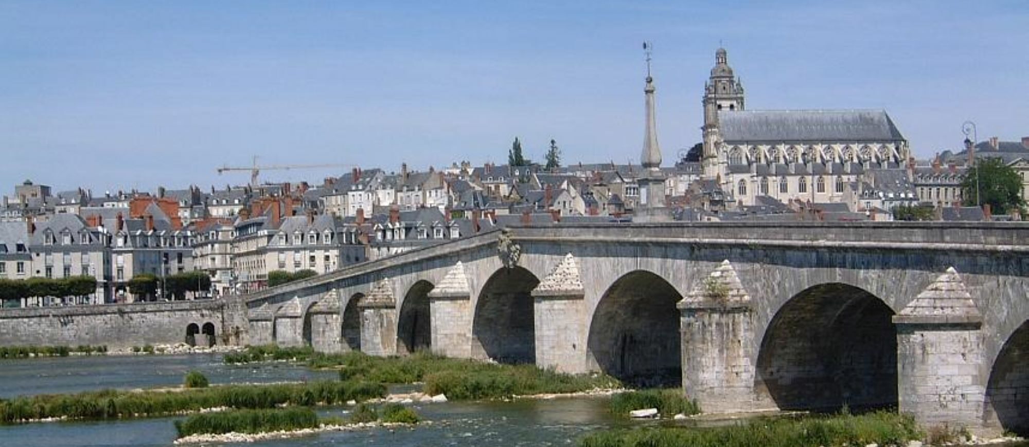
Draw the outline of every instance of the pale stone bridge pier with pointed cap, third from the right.
[[[586,303],[578,263],[571,253],[532,290],[536,366],[584,373]]]

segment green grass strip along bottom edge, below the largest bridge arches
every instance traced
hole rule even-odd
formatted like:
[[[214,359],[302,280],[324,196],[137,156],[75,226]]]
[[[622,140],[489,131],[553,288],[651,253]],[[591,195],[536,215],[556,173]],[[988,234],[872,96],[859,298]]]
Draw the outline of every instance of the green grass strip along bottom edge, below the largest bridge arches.
[[[907,445],[922,433],[895,412],[838,414],[801,419],[758,419],[714,429],[606,430],[582,438],[580,447],[803,447]]]

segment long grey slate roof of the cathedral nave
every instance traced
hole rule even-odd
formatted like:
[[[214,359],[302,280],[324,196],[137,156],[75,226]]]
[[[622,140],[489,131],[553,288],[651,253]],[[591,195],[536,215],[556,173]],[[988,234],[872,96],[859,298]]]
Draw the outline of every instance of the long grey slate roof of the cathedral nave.
[[[718,113],[725,142],[903,140],[883,110],[747,110]]]

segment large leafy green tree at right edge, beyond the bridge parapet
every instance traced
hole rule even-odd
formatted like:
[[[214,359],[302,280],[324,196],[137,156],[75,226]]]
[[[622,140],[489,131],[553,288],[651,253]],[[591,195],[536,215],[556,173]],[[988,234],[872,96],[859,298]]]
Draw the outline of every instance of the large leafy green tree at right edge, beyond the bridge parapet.
[[[978,194],[982,194],[982,200]],[[994,214],[1007,214],[1026,204],[1022,199],[1022,177],[1000,158],[977,160],[961,183],[961,196],[965,207],[989,204]]]

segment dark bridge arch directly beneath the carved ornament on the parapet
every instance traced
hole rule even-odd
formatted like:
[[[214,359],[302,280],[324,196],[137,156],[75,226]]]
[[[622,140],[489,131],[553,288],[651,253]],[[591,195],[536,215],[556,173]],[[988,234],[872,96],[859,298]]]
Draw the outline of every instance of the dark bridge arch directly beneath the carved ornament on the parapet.
[[[539,280],[522,267],[501,268],[483,286],[471,332],[485,356],[501,363],[536,362],[532,290]]]

